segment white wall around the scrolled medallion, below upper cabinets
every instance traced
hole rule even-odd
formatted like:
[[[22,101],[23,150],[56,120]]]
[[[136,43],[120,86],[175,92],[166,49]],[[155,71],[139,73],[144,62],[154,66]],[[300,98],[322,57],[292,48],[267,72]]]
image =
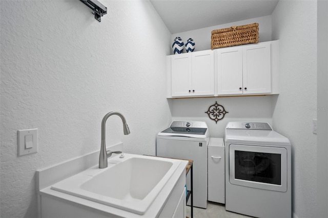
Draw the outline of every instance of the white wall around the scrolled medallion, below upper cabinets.
[[[205,113],[215,102],[228,111],[217,123]],[[262,121],[272,124],[274,103],[274,96],[173,99],[171,111],[174,120],[205,121],[211,137],[223,138],[224,129],[231,121]]]

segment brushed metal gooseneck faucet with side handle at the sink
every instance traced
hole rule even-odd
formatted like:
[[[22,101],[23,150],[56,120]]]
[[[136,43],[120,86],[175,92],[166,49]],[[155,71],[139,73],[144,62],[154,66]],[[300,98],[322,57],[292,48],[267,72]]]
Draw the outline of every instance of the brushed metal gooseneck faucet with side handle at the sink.
[[[125,120],[125,117],[117,112],[117,111],[112,111],[109,112],[108,114],[106,114],[103,118],[103,121],[101,122],[101,147],[100,147],[100,155],[99,155],[99,168],[106,168],[108,166],[108,162],[107,162],[107,158],[109,158],[113,153],[115,154],[119,154],[122,153],[120,151],[107,151],[106,150],[106,141],[105,141],[105,129],[106,129],[106,120],[108,119],[108,117],[110,117],[111,115],[117,115],[122,119],[123,122],[123,132],[125,135],[129,135],[130,134],[130,129],[128,127],[128,124]]]

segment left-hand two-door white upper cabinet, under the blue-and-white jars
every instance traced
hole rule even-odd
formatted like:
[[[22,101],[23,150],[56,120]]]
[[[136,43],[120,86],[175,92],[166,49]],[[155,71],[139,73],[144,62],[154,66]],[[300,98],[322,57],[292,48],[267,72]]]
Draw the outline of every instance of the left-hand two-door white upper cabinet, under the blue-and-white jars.
[[[212,50],[172,55],[171,96],[214,96]]]

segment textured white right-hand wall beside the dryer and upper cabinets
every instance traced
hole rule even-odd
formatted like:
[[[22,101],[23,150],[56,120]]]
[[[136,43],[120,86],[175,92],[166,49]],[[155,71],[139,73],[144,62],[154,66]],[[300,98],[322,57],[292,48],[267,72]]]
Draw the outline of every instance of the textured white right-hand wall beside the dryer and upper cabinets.
[[[317,137],[312,133],[317,116],[317,2],[279,1],[272,26],[280,54],[273,124],[293,146],[293,211],[299,218],[317,217]]]

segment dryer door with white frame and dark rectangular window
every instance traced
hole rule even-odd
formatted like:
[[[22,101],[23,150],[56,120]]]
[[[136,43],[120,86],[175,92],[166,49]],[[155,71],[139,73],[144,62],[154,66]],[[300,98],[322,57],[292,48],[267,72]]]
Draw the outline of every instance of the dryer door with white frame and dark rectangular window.
[[[229,181],[266,190],[287,190],[287,150],[265,146],[229,146]]]

